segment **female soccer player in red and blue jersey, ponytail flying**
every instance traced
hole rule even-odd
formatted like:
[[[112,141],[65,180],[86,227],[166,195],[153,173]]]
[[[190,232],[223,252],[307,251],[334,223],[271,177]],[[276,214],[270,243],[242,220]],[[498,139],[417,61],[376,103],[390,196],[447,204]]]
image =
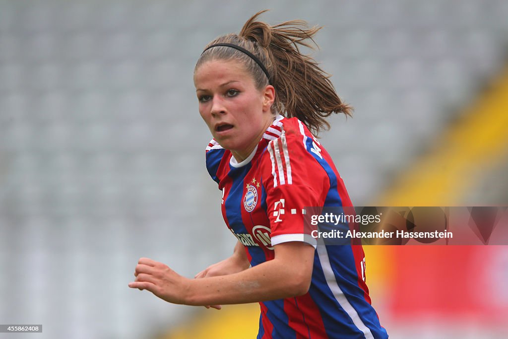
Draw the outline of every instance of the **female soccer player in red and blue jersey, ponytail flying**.
[[[240,34],[212,41],[194,82],[213,139],[206,166],[222,190],[233,255],[187,279],[141,258],[131,288],[168,302],[259,302],[258,338],[387,338],[370,304],[361,245],[325,245],[306,206],[352,206],[332,159],[310,131],[350,114],[328,75],[298,45],[320,28],[269,26],[257,13]]]

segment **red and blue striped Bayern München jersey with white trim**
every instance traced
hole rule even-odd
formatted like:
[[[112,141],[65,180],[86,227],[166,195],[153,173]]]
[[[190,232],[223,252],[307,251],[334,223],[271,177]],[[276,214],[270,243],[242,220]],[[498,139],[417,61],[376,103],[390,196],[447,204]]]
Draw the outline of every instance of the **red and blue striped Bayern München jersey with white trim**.
[[[251,266],[272,260],[283,242],[315,248],[306,294],[260,302],[258,339],[388,337],[370,303],[362,246],[320,244],[306,230],[304,207],[352,203],[330,155],[300,120],[278,115],[241,163],[212,139],[206,166]]]

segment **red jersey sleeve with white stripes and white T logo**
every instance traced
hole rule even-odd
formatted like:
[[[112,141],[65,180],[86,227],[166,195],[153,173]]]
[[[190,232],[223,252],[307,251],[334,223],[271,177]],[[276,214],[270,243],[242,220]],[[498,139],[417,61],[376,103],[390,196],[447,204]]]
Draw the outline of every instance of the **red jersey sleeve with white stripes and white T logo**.
[[[310,139],[303,134],[283,132],[267,146],[263,185],[272,246],[288,241],[316,245],[305,222],[315,209],[308,207],[323,206],[330,180],[305,141]]]

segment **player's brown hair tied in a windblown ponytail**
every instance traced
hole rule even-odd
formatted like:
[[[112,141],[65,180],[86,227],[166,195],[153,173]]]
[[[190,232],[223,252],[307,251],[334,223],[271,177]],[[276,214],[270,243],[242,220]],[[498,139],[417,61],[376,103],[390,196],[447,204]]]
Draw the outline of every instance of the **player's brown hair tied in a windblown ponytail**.
[[[238,60],[243,63],[256,83],[258,89],[271,83],[275,88],[275,102],[272,112],[286,117],[297,117],[315,135],[328,130],[330,124],[325,120],[332,113],[351,116],[352,108],[344,104],[324,72],[310,56],[302,54],[300,46],[312,48],[308,40],[322,27],[308,28],[302,20],[286,21],[270,26],[256,21],[260,11],[243,25],[240,33],[221,36],[206,47],[217,43],[235,44],[256,55],[265,65],[270,75],[267,78],[261,67],[245,53],[226,46],[206,50],[199,58],[196,70],[209,60]],[[205,48],[206,49],[206,48]]]

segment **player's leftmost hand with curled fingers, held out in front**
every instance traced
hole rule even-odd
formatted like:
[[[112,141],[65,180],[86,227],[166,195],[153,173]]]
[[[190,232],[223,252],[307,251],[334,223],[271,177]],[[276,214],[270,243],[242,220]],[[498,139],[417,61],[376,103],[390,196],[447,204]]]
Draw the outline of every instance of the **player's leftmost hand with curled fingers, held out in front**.
[[[148,258],[141,258],[134,272],[136,280],[130,288],[148,290],[168,302],[183,304],[187,291],[187,279],[167,265]]]

